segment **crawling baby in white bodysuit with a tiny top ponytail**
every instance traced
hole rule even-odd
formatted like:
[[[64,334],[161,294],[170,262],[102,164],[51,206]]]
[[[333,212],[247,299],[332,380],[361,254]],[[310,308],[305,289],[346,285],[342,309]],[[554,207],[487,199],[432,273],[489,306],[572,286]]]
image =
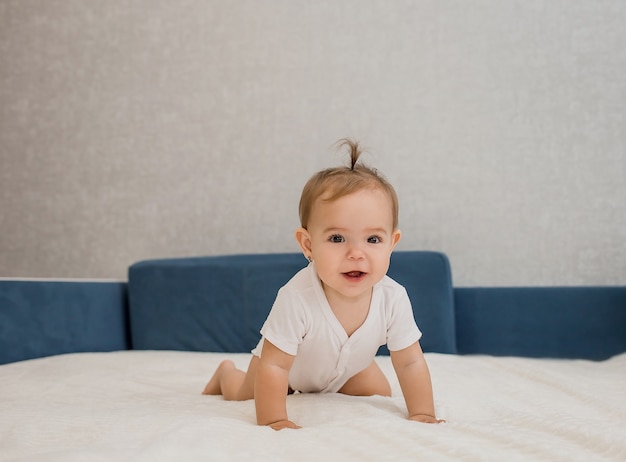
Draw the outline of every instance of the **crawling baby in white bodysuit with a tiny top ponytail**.
[[[386,276],[400,240],[398,198],[376,170],[358,162],[322,170],[300,198],[296,240],[309,265],[276,296],[247,372],[223,361],[203,394],[255,399],[257,422],[300,428],[287,416],[288,393],[391,396],[374,357],[386,344],[409,419],[439,423],[428,366],[406,290]]]

